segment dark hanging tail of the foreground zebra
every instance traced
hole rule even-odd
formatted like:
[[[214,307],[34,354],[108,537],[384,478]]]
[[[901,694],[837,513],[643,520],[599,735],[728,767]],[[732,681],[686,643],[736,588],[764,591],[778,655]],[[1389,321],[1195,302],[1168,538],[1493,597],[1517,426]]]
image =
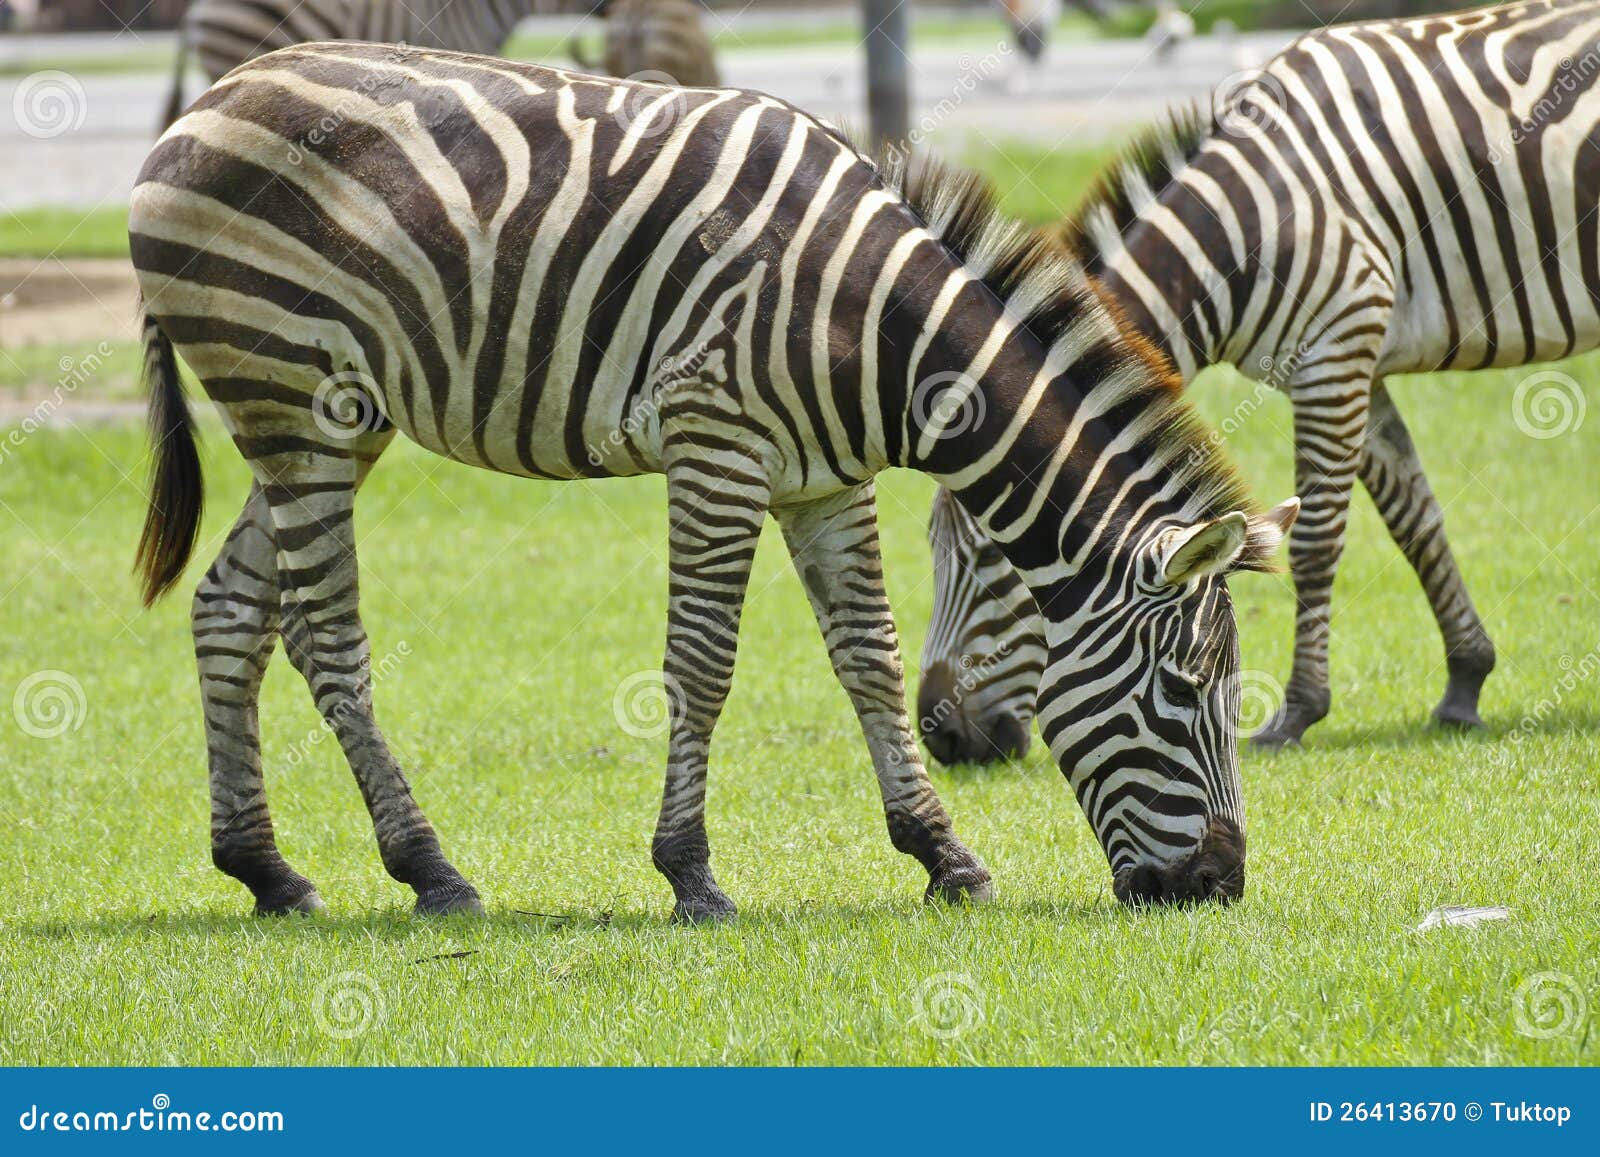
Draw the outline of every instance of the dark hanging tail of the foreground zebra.
[[[144,310],[141,304],[141,312]],[[182,578],[200,536],[205,486],[195,424],[178,378],[178,358],[155,318],[144,314],[144,384],[150,392],[150,506],[133,570],[149,607]]]

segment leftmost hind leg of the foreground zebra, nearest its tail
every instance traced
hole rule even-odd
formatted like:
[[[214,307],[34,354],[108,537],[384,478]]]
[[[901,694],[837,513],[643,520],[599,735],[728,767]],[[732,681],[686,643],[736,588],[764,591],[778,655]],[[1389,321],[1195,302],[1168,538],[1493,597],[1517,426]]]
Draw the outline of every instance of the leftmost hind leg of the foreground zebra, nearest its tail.
[[[261,775],[256,704],[278,629],[277,554],[266,494],[251,486],[190,615],[211,768],[211,863],[250,888],[258,915],[323,907],[278,853]]]

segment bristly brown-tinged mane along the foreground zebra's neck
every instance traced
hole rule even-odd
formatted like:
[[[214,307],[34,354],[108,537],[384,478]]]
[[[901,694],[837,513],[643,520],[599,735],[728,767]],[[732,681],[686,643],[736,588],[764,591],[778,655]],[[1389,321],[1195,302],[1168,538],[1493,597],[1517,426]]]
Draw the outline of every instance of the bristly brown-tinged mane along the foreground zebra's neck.
[[[1182,397],[1171,362],[1104,301],[1077,258],[1048,234],[1000,208],[990,181],[923,154],[877,162],[885,182],[946,248],[982,280],[1045,347],[1072,342],[1088,379],[1115,382],[1107,408],[1118,429],[1139,432],[1134,453],[1160,461],[1181,494],[1182,517],[1253,512],[1250,490],[1219,438]]]

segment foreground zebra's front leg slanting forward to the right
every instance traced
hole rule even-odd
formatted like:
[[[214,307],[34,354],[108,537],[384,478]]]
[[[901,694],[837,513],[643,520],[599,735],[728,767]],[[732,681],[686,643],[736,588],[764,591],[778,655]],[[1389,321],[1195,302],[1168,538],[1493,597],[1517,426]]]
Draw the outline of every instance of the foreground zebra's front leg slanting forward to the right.
[[[872,752],[890,840],[928,869],[928,899],[989,899],[989,871],[955,835],[906,715],[906,671],[883,591],[872,483],[776,514],[834,674]]]

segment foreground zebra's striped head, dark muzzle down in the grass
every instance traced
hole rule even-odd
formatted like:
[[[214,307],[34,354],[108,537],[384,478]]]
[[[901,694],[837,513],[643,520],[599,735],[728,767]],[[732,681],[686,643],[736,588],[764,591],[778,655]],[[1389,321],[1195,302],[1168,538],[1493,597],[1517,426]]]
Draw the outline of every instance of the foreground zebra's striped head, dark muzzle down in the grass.
[[[1299,512],[1157,525],[1107,566],[1035,581],[1038,725],[1128,904],[1245,890],[1238,629],[1227,574],[1269,570]]]

